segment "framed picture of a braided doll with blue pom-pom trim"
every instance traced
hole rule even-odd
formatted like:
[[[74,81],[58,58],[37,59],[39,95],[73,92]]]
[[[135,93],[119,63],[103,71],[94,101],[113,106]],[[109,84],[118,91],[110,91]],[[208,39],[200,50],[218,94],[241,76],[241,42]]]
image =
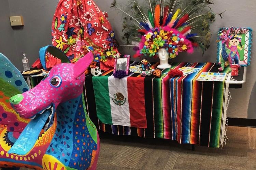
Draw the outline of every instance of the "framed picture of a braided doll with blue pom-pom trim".
[[[217,63],[221,64],[225,57],[228,58],[231,56],[232,60],[240,66],[249,66],[251,61],[251,44],[251,28],[231,27],[219,29],[217,40]]]

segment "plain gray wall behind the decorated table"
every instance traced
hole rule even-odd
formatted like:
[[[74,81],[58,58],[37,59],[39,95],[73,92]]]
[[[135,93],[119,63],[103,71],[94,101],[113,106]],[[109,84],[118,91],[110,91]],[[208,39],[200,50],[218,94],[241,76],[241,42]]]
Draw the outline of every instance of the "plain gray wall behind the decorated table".
[[[95,0],[102,11],[109,14],[109,20],[115,31],[116,38],[122,44],[122,14],[109,6],[112,0]],[[127,0],[117,0],[117,2],[127,2]],[[174,62],[215,62],[216,61],[216,33],[221,27],[251,27],[256,29],[256,1],[255,0],[213,0],[212,10],[215,13],[223,14],[223,19],[216,16],[216,21],[211,26],[212,38],[211,47],[202,56],[200,50],[194,54],[181,54]],[[30,64],[38,58],[40,47],[51,44],[51,22],[58,0],[1,0],[0,2],[0,51],[10,58],[19,68],[22,68],[21,56],[27,53]],[[9,15],[22,15],[25,26],[21,29],[13,30],[10,26]],[[255,35],[255,31],[253,31]],[[252,47],[251,66],[247,68],[247,80],[241,89],[230,89],[232,100],[229,105],[228,117],[252,118],[256,119],[256,41]],[[122,48],[120,52],[132,55],[134,52],[129,48]],[[171,62],[171,61],[170,61]],[[247,112],[248,111],[248,112]]]

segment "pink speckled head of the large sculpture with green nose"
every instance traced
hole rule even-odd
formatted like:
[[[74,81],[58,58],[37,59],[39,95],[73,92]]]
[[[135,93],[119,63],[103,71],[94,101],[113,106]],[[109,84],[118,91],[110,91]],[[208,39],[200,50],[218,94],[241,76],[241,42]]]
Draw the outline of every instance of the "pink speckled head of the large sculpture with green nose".
[[[24,118],[33,118],[49,108],[54,113],[60,103],[82,94],[84,72],[92,60],[93,53],[89,52],[75,64],[56,65],[37,86],[10,98],[12,106]]]

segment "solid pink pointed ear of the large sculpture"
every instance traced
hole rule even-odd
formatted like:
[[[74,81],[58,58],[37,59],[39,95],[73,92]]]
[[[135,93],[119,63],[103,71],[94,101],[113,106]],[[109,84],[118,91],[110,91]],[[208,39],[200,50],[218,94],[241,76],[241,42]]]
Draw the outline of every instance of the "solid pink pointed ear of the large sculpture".
[[[85,72],[85,70],[89,67],[89,65],[93,61],[93,56],[93,52],[89,52],[74,64],[74,75],[76,78],[79,78],[80,75],[82,75]]]

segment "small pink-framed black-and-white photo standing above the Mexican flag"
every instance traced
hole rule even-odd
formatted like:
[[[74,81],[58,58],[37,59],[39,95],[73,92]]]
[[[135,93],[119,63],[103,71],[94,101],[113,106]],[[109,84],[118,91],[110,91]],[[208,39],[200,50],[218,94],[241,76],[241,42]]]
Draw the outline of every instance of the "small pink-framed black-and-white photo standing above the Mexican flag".
[[[119,58],[115,58],[114,73],[117,70],[123,70],[128,74],[130,66],[130,55],[121,55]]]

